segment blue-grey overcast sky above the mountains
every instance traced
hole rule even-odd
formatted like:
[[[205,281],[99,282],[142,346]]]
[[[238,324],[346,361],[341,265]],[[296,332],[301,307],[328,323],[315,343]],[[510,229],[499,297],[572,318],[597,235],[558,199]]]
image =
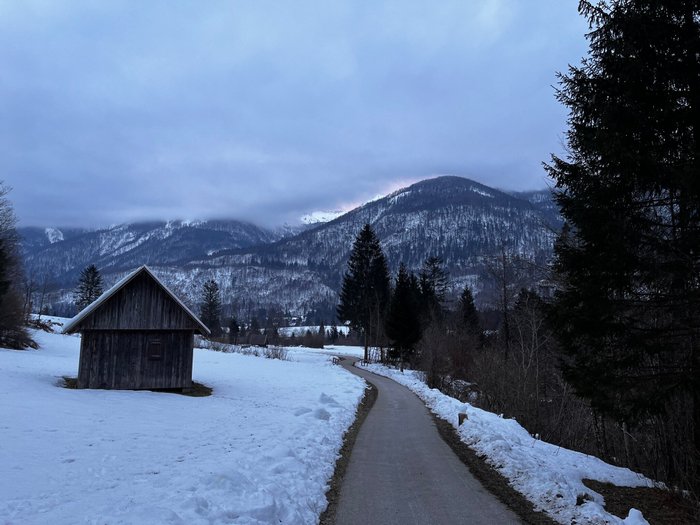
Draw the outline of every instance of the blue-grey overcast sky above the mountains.
[[[537,189],[578,0],[0,0],[21,225],[265,225],[450,174]]]

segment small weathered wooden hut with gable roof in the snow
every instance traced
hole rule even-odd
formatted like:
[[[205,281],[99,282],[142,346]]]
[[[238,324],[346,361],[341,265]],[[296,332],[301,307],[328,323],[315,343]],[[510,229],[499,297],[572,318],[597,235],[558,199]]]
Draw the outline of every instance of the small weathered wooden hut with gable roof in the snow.
[[[194,334],[209,329],[146,266],[81,311],[78,388],[188,389]]]

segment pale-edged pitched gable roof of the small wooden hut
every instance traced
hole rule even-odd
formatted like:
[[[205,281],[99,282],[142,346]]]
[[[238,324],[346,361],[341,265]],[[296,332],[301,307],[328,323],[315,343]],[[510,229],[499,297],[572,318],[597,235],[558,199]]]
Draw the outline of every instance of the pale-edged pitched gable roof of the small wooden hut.
[[[148,268],[147,266],[141,266],[140,268],[137,268],[130,274],[128,274],[126,277],[118,281],[114,286],[112,286],[109,290],[104,292],[99,298],[97,298],[95,301],[93,301],[90,305],[88,305],[86,308],[84,308],[78,315],[76,315],[73,319],[71,319],[67,325],[64,326],[63,328],[63,333],[64,334],[72,334],[75,332],[79,332],[82,328],[85,328],[91,324],[91,322],[96,321],[96,313],[98,311],[104,311],[106,308],[108,308],[109,304],[111,302],[114,302],[117,300],[118,296],[120,295],[119,292],[122,292],[125,290],[130,283],[133,283],[139,278],[146,278],[152,283],[154,283],[155,288],[164,296],[168,297],[171,299],[174,304],[176,305],[176,308],[182,313],[180,317],[183,320],[188,321],[188,327],[194,329],[195,331],[203,334],[203,335],[209,335],[210,331],[209,328],[206,327],[202,321],[199,320],[199,318],[192,313],[192,311],[185,306],[185,304],[172,292],[170,289],[165,286],[161,282],[158,277],[155,276],[155,274]],[[104,328],[104,327],[102,327]],[[115,327],[115,328],[144,328],[143,326],[133,326],[133,327]],[[165,326],[162,328],[173,328],[172,326]],[[182,328],[182,327],[180,327]]]

